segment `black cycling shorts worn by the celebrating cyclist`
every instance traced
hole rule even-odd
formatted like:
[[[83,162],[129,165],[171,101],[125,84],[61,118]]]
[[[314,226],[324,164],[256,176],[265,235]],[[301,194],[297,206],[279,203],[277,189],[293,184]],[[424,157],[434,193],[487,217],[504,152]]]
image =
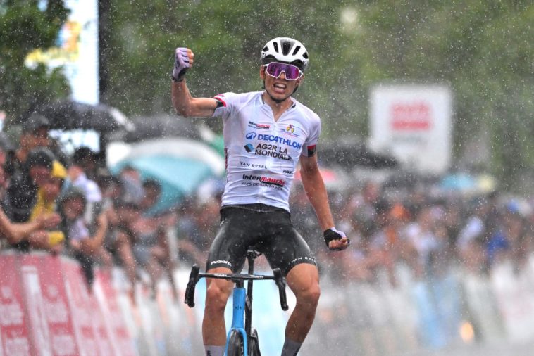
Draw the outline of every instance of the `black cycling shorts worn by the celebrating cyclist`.
[[[248,248],[263,253],[271,268],[286,275],[295,265],[317,265],[311,250],[291,224],[290,213],[264,204],[228,205],[209,251],[206,271],[226,267],[241,272]]]

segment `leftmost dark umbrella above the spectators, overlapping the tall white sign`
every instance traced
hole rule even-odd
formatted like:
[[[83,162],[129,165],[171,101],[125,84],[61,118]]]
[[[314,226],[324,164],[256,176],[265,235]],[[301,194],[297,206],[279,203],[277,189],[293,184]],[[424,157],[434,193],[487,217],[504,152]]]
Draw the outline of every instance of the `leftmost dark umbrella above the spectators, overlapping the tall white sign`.
[[[58,101],[38,106],[34,111],[50,121],[51,129],[94,129],[99,133],[135,129],[135,125],[128,120],[128,117],[118,109],[105,104]]]

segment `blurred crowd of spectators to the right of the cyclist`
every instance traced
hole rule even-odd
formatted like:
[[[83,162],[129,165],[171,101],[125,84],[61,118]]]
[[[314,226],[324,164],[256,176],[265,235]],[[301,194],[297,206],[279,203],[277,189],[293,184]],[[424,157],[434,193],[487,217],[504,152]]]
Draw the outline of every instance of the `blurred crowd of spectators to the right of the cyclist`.
[[[352,236],[342,255],[321,251],[333,278],[399,281],[399,265],[415,280],[445,276],[461,267],[487,275],[499,262],[519,272],[534,252],[534,201],[499,191],[469,194],[436,189],[436,184],[391,189],[367,182],[344,191],[335,211],[340,229]],[[335,259],[335,261],[334,261]]]

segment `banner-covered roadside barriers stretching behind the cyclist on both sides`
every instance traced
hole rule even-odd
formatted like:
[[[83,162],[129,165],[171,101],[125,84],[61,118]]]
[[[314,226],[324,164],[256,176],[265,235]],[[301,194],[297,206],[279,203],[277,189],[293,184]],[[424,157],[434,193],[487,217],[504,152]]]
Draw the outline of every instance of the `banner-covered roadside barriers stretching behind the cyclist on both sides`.
[[[489,276],[457,267],[428,280],[398,266],[399,285],[321,281],[316,322],[302,355],[416,355],[465,343],[534,340],[534,259],[504,262]],[[180,300],[160,281],[156,298],[137,285],[135,304],[120,269],[97,270],[91,291],[77,262],[44,253],[0,254],[0,356],[202,355],[205,284],[182,304],[187,269],[175,271]],[[254,326],[264,355],[280,355],[284,327],[276,287],[254,288]],[[231,303],[228,303],[231,305]],[[230,307],[227,309],[228,321]]]

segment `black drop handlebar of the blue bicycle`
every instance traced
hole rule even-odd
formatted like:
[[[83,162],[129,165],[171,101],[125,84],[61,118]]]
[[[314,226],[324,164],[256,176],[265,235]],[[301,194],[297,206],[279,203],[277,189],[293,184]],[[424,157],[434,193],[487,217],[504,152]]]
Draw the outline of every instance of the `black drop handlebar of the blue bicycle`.
[[[185,298],[184,303],[189,307],[194,307],[194,287],[197,285],[197,282],[201,278],[216,278],[216,279],[226,279],[237,283],[244,280],[267,280],[273,279],[276,286],[278,286],[278,294],[280,295],[280,307],[282,310],[287,310],[287,295],[285,294],[285,280],[282,275],[280,268],[273,269],[272,276],[266,276],[263,274],[223,274],[223,273],[199,273],[200,267],[198,265],[193,265],[191,273],[189,275],[189,282],[187,282],[187,287],[185,288]]]

